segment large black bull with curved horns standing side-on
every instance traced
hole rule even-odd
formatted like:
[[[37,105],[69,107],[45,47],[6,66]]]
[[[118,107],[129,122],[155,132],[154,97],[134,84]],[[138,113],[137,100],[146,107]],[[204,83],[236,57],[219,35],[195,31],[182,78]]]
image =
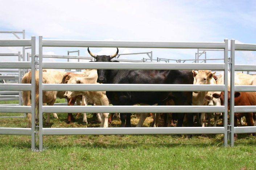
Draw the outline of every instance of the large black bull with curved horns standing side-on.
[[[118,54],[94,55],[87,49],[89,54],[96,59],[95,62],[118,62],[111,61]],[[106,84],[193,84],[194,78],[191,70],[111,70],[98,69],[99,83]],[[192,92],[106,92],[112,105],[131,106],[137,103],[148,105],[163,105],[169,99],[173,99],[175,105],[192,105]],[[177,114],[178,127],[182,127],[184,113]],[[193,126],[193,114],[187,113],[190,127]],[[121,127],[131,127],[131,113],[121,113]]]

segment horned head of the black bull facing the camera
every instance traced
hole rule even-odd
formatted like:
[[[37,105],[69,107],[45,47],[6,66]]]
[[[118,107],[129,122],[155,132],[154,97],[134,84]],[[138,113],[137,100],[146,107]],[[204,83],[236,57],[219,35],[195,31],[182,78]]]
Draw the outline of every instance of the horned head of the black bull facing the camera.
[[[89,54],[93,58],[96,59],[95,62],[112,62],[111,59],[114,58],[118,54],[118,48],[117,48],[116,53],[113,55],[95,55],[89,50],[89,47],[87,50],[88,50]],[[97,73],[98,73],[97,82],[98,83],[106,83],[108,72],[109,72],[109,70],[106,70],[106,69],[97,69]]]

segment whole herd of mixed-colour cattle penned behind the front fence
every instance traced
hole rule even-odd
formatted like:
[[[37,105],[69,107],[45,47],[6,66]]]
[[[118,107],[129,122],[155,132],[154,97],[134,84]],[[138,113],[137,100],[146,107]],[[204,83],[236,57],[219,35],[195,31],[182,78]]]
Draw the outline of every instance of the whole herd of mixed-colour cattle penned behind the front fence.
[[[111,61],[118,54],[117,52],[111,56],[95,55],[88,48],[89,54],[94,57],[95,62],[118,62]],[[87,69],[83,72],[64,72],[54,69],[43,69],[43,83],[45,84],[223,84],[224,73],[216,76],[215,72],[209,70],[117,70],[117,69]],[[228,75],[230,79],[230,75]],[[36,123],[38,122],[38,71],[36,71]],[[230,81],[228,81],[230,82]],[[31,83],[31,71],[26,73],[21,83]],[[235,73],[235,85],[256,85],[256,75],[246,75],[243,73]],[[228,84],[230,90],[230,84]],[[66,98],[68,105],[98,105],[108,106],[130,106],[130,105],[196,105],[208,106],[224,105],[223,92],[112,92],[112,91],[43,91],[44,105],[54,105],[56,97]],[[29,91],[22,92],[24,106],[30,105],[31,94]],[[230,92],[228,92],[228,101],[230,100]],[[80,104],[81,103],[81,104]],[[235,106],[251,106],[256,105],[256,92],[235,92]],[[228,103],[228,109],[230,105]],[[28,115],[28,125],[31,127],[31,114]],[[79,118],[78,114],[76,119]],[[108,127],[111,123],[113,114],[109,113],[96,114],[98,121],[101,122],[100,127]],[[140,120],[136,127],[141,127],[149,113],[141,113]],[[194,118],[202,127],[211,126],[209,113],[179,113],[163,114],[164,125],[170,127],[173,120],[177,120],[177,127],[182,127],[187,122],[189,127],[193,127]],[[214,127],[222,113],[214,113]],[[238,120],[242,121],[245,116],[248,126],[256,126],[256,113],[235,113],[235,126],[238,126]],[[58,118],[54,113],[54,117]],[[158,127],[160,113],[153,114],[154,127]],[[206,121],[208,118],[208,121]],[[120,113],[121,127],[131,127],[131,113]],[[67,121],[74,121],[73,114],[69,113]],[[253,123],[254,120],[254,123]],[[50,123],[50,114],[48,113],[46,125]],[[87,124],[86,113],[83,114],[83,123]],[[243,122],[240,122],[243,123]],[[256,134],[253,134],[256,135]],[[235,135],[236,138],[236,135]]]

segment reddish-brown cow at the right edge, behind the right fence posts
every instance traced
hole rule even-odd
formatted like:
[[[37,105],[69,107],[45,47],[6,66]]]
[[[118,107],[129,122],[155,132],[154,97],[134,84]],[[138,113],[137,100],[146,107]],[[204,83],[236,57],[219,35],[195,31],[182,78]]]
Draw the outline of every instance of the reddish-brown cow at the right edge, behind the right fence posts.
[[[221,104],[224,105],[224,92],[221,92],[220,94],[214,93],[213,97],[220,98]],[[256,106],[256,92],[235,92],[234,94],[235,106]],[[230,109],[230,91],[228,91],[228,110]],[[245,116],[247,126],[256,126],[256,113],[235,113],[235,120],[234,120],[234,126],[238,126],[237,119],[240,119],[241,117]],[[254,124],[253,124],[254,119]],[[255,136],[256,133],[253,133],[253,136]],[[234,134],[234,139],[236,139],[237,134]]]

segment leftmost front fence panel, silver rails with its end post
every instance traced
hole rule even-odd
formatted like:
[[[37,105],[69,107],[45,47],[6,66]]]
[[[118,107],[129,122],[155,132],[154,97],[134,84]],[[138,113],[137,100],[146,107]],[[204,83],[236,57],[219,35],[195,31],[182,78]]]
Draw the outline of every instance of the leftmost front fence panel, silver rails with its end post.
[[[35,54],[36,38],[31,39],[17,39],[17,40],[0,40],[1,47],[26,47],[30,46],[32,56]],[[36,147],[35,142],[35,66],[34,58],[32,61],[0,61],[1,69],[25,69],[31,68],[31,84],[0,84],[0,90],[8,91],[31,91],[31,106],[3,106],[0,105],[0,112],[3,113],[31,113],[32,126],[31,128],[4,128],[0,127],[0,135],[31,135],[31,148],[34,150]]]

